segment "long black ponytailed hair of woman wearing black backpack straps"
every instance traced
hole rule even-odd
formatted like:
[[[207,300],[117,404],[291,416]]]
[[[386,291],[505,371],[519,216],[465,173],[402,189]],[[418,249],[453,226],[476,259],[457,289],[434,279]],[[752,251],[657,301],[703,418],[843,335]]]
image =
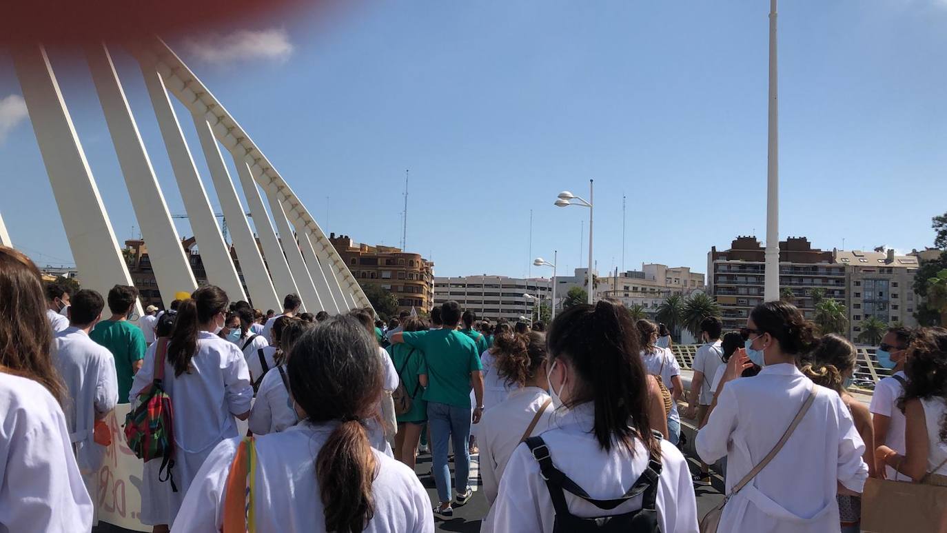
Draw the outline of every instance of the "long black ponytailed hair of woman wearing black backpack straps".
[[[602,450],[611,450],[616,440],[634,452],[637,437],[649,453],[655,452],[648,418],[648,375],[628,311],[605,301],[594,307],[573,306],[556,317],[547,339],[549,364],[567,360],[579,375],[575,397],[567,406],[595,404],[593,431]]]

